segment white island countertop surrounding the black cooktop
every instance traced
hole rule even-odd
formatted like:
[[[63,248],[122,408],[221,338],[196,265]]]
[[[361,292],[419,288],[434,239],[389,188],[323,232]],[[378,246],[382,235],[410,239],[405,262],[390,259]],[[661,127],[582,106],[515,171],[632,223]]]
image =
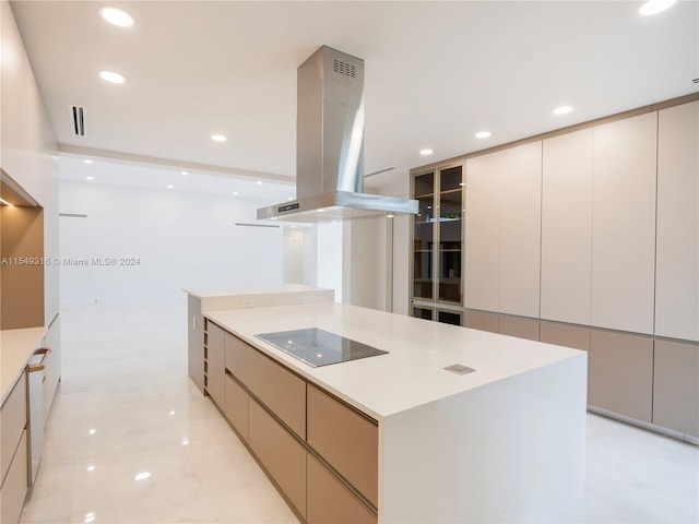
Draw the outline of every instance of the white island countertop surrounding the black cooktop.
[[[298,374],[380,420],[584,352],[336,302],[203,311]],[[256,334],[318,327],[389,355],[312,368]],[[476,371],[455,374],[461,364]]]

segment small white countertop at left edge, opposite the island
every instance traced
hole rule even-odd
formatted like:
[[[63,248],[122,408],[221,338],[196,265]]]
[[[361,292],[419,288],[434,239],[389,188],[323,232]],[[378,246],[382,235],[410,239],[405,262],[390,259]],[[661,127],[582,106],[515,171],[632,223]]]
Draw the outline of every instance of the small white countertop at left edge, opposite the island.
[[[2,402],[39,346],[46,327],[25,327],[0,331],[0,391]]]

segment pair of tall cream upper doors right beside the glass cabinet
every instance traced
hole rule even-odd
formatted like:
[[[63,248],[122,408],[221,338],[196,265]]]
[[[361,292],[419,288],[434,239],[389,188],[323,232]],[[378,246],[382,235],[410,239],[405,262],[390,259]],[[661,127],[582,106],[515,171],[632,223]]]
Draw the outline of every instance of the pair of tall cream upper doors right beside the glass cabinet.
[[[541,142],[466,160],[466,308],[538,317],[541,170]]]

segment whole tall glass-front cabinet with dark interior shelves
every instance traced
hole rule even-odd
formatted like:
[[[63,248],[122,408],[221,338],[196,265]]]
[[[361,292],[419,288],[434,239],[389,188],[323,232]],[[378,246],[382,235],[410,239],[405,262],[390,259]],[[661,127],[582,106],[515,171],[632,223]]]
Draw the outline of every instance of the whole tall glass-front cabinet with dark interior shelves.
[[[414,170],[411,189],[419,202],[412,228],[412,314],[461,324],[464,166]]]

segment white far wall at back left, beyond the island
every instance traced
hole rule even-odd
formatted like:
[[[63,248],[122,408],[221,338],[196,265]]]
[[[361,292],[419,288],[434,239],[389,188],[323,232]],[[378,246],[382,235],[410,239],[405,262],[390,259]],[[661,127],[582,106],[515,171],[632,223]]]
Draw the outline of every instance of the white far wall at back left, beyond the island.
[[[166,190],[62,181],[60,257],[63,302],[164,299],[182,287],[273,286],[283,282],[283,230],[254,223],[266,202]],[[134,258],[137,265],[91,264]]]

